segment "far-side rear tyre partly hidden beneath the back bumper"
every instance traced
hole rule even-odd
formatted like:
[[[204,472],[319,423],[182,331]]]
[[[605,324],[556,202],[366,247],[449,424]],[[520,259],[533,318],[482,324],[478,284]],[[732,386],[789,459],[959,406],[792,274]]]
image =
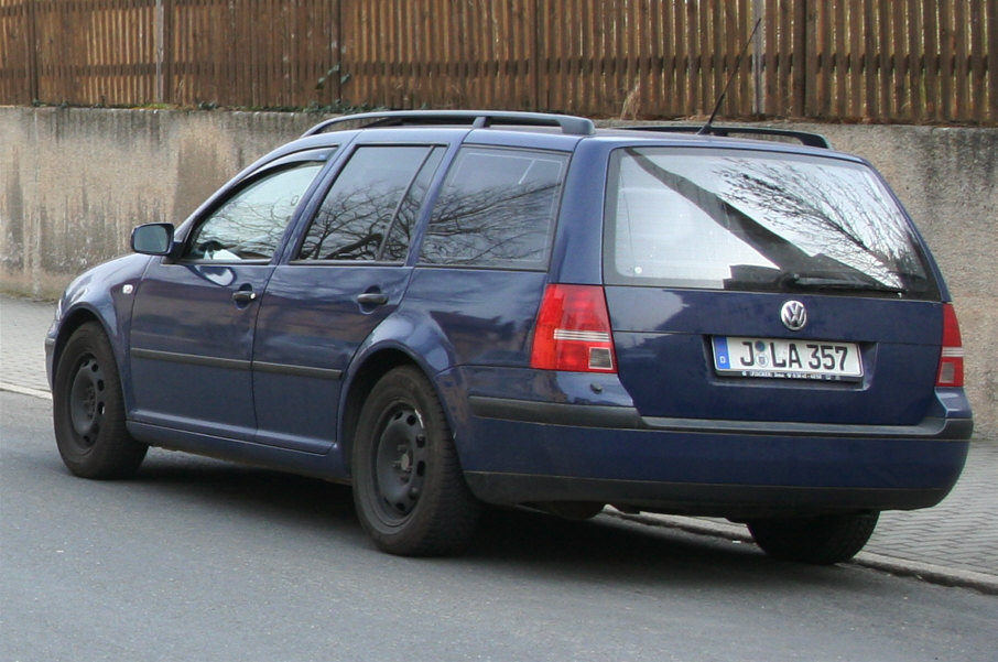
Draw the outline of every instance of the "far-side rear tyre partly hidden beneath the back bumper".
[[[774,558],[828,565],[859,553],[872,535],[879,514],[753,520],[748,528],[756,544]]]

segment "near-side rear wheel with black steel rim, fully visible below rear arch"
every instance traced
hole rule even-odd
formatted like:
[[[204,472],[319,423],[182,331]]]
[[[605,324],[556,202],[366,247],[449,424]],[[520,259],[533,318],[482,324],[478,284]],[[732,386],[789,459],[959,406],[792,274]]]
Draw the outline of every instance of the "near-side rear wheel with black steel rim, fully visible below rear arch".
[[[414,368],[375,384],[354,441],[354,504],[384,552],[429,556],[460,551],[480,504],[464,480],[451,428],[433,388]]]

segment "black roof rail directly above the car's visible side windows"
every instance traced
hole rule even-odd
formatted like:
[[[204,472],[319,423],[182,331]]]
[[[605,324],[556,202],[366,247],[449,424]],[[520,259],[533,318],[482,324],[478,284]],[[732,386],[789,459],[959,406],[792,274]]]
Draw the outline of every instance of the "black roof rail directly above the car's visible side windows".
[[[528,127],[561,127],[568,135],[592,135],[596,132],[593,120],[571,115],[549,112],[518,112],[512,110],[384,110],[344,115],[319,122],[305,131],[316,135],[326,129],[345,122],[367,122],[367,127],[402,127],[425,124],[470,124],[474,128],[493,124],[520,124]]]

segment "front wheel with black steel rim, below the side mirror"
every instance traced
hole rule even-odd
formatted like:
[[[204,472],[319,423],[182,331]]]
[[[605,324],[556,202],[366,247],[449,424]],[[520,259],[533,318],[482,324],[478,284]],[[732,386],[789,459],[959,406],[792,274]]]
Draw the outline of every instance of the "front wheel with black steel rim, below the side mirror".
[[[76,329],[59,357],[52,415],[59,455],[77,476],[128,478],[145,457],[149,447],[124,427],[118,367],[96,322]]]

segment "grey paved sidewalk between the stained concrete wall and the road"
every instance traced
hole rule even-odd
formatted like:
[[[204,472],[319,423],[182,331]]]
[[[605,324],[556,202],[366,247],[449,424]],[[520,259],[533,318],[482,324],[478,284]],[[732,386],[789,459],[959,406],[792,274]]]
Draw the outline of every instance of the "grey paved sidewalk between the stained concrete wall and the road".
[[[50,398],[44,338],[53,312],[51,303],[0,296],[0,390]],[[749,540],[745,527],[725,520],[616,517]],[[881,514],[856,562],[998,594],[998,439],[975,439],[963,476],[939,506]]]

